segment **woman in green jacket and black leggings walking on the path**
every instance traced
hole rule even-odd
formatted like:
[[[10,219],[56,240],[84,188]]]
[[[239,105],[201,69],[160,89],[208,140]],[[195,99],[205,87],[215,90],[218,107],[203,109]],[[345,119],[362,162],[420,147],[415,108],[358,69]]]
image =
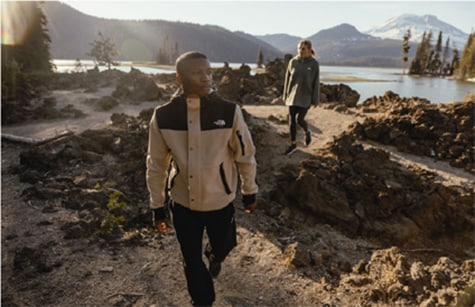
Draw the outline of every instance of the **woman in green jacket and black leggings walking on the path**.
[[[290,155],[297,149],[297,123],[305,131],[305,145],[312,141],[312,134],[305,121],[311,105],[320,102],[320,65],[315,59],[312,42],[301,40],[297,45],[298,55],[287,66],[283,99],[289,106],[290,146],[284,152]]]

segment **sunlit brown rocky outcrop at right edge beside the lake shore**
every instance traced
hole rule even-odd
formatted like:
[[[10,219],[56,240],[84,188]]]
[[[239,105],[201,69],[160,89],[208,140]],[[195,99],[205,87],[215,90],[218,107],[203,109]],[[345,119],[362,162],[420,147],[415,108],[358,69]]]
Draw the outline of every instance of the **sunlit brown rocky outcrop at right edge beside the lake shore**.
[[[396,146],[402,152],[448,161],[475,174],[474,101],[430,104],[388,92],[366,101],[361,108],[386,113],[380,119],[369,118],[357,124],[354,133],[359,137]]]

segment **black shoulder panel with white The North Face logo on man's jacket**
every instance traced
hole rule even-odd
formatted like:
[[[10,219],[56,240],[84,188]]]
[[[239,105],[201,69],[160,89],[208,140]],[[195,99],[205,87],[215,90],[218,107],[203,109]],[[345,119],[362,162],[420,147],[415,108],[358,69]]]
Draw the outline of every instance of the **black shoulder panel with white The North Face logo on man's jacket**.
[[[236,104],[213,93],[201,104],[201,130],[232,128]]]

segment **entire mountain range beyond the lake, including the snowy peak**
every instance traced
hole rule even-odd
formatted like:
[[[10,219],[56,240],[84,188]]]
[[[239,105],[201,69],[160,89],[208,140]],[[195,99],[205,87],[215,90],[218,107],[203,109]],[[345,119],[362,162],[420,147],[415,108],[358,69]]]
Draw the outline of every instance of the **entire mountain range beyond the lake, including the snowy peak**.
[[[186,50],[202,51],[213,62],[255,63],[260,48],[266,61],[274,60],[282,58],[284,54],[296,54],[297,43],[302,39],[285,33],[252,35],[242,31],[231,32],[217,25],[188,22],[104,19],[53,1],[46,2],[44,8],[52,39],[51,53],[56,59],[87,58],[90,43],[97,40],[99,31],[105,37],[110,37],[118,47],[121,54],[118,60],[132,61],[154,61],[160,48],[166,47],[164,44],[167,42],[172,47],[177,46],[180,53]],[[312,41],[317,58],[323,65],[400,67],[402,37],[406,31],[400,26],[403,22],[411,18],[419,20],[417,27],[414,27],[418,30],[414,30],[412,36],[409,59],[414,56],[420,43],[415,40],[422,21],[419,16],[414,16],[404,14],[392,18],[369,32],[360,32],[353,25],[342,23],[320,30],[307,39]],[[424,22],[444,25],[444,29],[452,30],[451,33],[460,31],[435,16],[425,16],[430,17]],[[404,33],[396,32],[395,29]],[[438,28],[433,26],[432,29],[435,37],[438,35],[435,29]],[[468,34],[465,35],[468,39]],[[462,47],[459,47],[459,51]]]

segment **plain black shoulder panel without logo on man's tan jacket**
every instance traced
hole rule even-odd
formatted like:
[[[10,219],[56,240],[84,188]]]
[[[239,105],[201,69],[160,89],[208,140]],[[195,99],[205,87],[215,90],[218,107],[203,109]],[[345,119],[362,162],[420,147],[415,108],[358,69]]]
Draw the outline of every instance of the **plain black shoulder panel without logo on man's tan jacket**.
[[[187,130],[186,102],[181,96],[158,107],[155,112],[160,129]]]

